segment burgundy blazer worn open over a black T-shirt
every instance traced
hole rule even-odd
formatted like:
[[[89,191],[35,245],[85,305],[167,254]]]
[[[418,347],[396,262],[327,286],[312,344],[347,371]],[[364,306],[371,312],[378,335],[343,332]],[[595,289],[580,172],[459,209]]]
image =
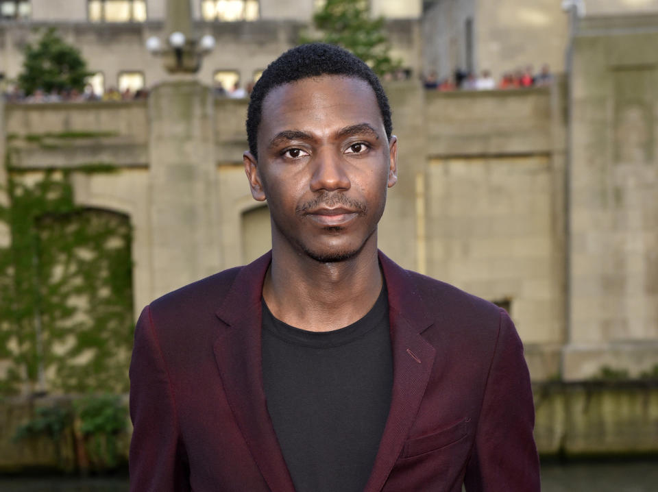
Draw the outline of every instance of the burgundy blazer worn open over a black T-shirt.
[[[132,492],[294,492],[263,392],[270,260],[143,310],[130,364]],[[467,491],[539,491],[530,378],[507,313],[381,253],[380,263],[393,392],[365,491],[461,492],[464,481]]]

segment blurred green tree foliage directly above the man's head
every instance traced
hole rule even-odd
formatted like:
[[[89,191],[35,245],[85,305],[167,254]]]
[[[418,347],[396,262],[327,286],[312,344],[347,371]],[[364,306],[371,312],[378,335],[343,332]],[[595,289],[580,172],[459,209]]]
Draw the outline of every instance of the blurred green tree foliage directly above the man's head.
[[[326,0],[313,16],[320,36],[303,34],[300,42],[321,41],[339,45],[366,62],[377,75],[400,68],[390,56],[391,43],[385,33],[385,19],[371,19],[367,0]]]

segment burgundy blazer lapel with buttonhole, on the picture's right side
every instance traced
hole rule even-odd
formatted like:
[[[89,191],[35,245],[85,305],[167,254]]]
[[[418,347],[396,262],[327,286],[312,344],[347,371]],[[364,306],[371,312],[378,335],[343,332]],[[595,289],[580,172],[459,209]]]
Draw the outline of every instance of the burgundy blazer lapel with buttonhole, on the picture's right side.
[[[425,392],[436,352],[420,334],[431,322],[408,273],[381,251],[379,259],[389,293],[393,391],[389,417],[365,492],[380,491],[391,473]]]

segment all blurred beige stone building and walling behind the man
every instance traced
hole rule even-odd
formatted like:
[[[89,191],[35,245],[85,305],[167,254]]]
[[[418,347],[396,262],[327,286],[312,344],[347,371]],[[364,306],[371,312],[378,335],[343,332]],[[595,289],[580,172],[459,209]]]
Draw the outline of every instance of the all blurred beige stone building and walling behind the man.
[[[493,3],[371,1],[412,73],[387,83],[400,182],[380,245],[404,267],[507,308],[535,381],[655,371],[658,1],[587,1],[571,18],[557,1]],[[144,48],[165,36],[163,5],[0,0],[5,78],[19,72],[34,27],[56,25],[99,87],[152,88],[148,101],[0,103],[0,155],[14,180],[66,171],[76,204],[130,224],[135,316],[154,297],[269,248],[269,212],[250,196],[241,164],[247,100],[218,99],[211,88],[231,73],[251,81],[294,45],[315,3],[193,1],[197,34],[217,39],[196,82],[162,82],[160,60]],[[456,65],[500,74],[541,62],[567,77],[446,93],[417,80]],[[98,163],[114,172],[92,172]],[[6,228],[0,239],[10,240]],[[56,345],[61,358],[71,340]]]

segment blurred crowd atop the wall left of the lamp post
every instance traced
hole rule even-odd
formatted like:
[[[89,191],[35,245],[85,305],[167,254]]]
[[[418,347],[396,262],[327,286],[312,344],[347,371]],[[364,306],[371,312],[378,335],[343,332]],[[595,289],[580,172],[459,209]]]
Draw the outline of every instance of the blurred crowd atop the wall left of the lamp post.
[[[138,90],[130,90],[129,88],[119,91],[116,87],[108,88],[102,94],[95,93],[93,87],[87,84],[84,90],[80,92],[77,89],[71,90],[52,90],[46,92],[42,89],[37,89],[31,95],[25,95],[23,90],[18,86],[14,86],[11,90],[4,93],[5,100],[8,102],[21,102],[21,103],[75,103],[86,101],[136,101],[146,99],[149,96],[147,88]]]

